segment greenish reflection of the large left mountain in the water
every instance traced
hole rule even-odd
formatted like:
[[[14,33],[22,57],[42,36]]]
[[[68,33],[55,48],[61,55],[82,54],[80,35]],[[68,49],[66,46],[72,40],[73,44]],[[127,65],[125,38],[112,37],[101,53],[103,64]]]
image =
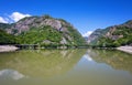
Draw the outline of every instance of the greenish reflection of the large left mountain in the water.
[[[0,54],[0,70],[15,70],[26,76],[50,77],[68,72],[86,50],[20,51]]]

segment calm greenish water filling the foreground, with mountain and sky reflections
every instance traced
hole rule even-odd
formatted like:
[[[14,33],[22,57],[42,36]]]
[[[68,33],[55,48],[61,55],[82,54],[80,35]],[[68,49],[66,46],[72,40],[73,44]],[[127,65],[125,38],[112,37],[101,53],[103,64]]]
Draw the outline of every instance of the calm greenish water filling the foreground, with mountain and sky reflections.
[[[132,85],[132,55],[82,49],[0,53],[0,85]]]

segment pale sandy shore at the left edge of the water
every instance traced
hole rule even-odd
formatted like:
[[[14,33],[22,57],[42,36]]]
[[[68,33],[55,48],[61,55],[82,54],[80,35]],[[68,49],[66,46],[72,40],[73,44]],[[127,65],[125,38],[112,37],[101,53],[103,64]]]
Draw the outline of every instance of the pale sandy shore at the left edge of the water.
[[[11,52],[11,51],[15,51],[19,47],[15,47],[13,45],[0,45],[0,52]]]

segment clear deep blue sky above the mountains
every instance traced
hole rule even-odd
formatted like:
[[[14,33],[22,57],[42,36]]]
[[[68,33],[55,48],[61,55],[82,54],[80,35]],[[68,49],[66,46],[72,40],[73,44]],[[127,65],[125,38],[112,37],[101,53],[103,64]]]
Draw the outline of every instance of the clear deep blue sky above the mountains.
[[[132,0],[0,0],[0,18],[14,12],[51,14],[70,22],[81,34],[132,19]]]

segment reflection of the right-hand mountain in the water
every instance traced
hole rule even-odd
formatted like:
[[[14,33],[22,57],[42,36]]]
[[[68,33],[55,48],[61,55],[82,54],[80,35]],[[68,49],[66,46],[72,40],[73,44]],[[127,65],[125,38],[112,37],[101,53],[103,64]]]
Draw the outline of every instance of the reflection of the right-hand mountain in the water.
[[[132,73],[132,55],[120,51],[88,50],[87,53],[98,63],[106,63],[114,70]]]

